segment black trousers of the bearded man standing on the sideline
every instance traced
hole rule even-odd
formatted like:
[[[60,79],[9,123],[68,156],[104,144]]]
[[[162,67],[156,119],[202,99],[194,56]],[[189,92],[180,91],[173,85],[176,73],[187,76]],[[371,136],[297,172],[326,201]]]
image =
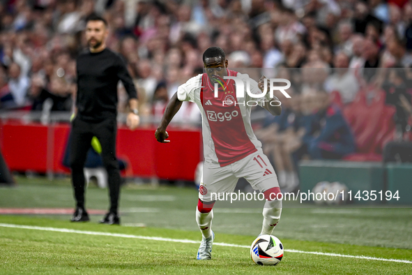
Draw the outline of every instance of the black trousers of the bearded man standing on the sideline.
[[[100,122],[89,122],[76,117],[72,122],[70,144],[70,168],[77,207],[84,208],[84,163],[87,151],[91,147],[91,139],[96,136],[102,146],[102,161],[107,170],[110,208],[117,214],[120,194],[120,171],[116,159],[116,119],[105,119]]]

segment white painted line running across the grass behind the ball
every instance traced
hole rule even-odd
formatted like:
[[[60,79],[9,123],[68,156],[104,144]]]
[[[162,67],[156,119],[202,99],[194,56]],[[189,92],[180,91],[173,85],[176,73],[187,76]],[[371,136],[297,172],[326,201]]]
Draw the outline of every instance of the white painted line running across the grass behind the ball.
[[[31,225],[15,225],[11,223],[0,223],[0,226],[3,228],[20,228],[20,229],[43,230],[43,231],[64,232],[64,233],[77,233],[77,234],[85,234],[85,235],[122,237],[122,238],[131,238],[131,239],[148,239],[151,241],[172,241],[172,242],[178,242],[178,243],[183,243],[183,244],[199,244],[200,243],[199,241],[193,241],[191,239],[169,239],[169,238],[163,238],[163,237],[146,237],[146,236],[127,235],[127,234],[109,233],[109,232],[74,230],[74,229],[68,229],[68,228],[46,228],[46,227],[31,226]],[[215,242],[213,244],[215,246],[250,248],[250,246],[242,246],[240,244],[226,244],[226,243],[220,243],[220,242]],[[300,250],[295,250],[295,249],[285,249],[285,252],[314,254],[314,255],[323,255],[323,256],[331,256],[331,257],[342,257],[342,258],[355,258],[355,259],[362,259],[362,260],[379,260],[383,262],[402,262],[406,264],[412,264],[411,260],[374,258],[374,257],[368,257],[368,256],[344,255],[344,254],[337,254],[337,253],[324,253],[324,252],[315,252],[315,251],[300,251]]]

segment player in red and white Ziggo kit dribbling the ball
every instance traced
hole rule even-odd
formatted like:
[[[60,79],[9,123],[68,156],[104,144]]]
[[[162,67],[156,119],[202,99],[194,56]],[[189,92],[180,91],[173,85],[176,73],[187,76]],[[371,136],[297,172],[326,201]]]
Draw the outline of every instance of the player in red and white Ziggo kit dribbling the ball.
[[[261,94],[264,81],[267,80],[259,80],[258,84],[247,75],[227,69],[228,60],[220,47],[209,47],[203,54],[203,62],[206,73],[192,77],[178,87],[155,131],[158,142],[170,142],[166,140],[169,137],[166,128],[181,107],[182,101],[194,102],[201,110],[204,170],[199,188],[196,221],[203,236],[197,260],[211,259],[214,239],[211,230],[212,208],[216,200],[211,198],[211,193],[233,192],[240,177],[244,177],[253,188],[263,192],[267,200],[261,235],[272,233],[282,212],[282,201],[275,200],[280,193],[277,176],[262,152],[261,142],[252,131],[251,107],[247,105],[252,99],[259,100],[259,105],[268,112],[279,115],[282,112],[280,101],[276,97],[270,98],[269,93],[264,98],[249,96],[246,93],[247,80],[250,80],[252,94]],[[245,97],[237,97],[234,80],[223,80],[224,76],[241,78]],[[217,97],[214,96],[216,82],[220,84]]]

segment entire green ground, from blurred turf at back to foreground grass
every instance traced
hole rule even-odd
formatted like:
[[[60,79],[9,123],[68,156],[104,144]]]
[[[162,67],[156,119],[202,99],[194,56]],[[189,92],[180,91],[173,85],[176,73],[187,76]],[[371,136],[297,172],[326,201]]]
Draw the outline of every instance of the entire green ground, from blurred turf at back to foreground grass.
[[[67,179],[17,181],[17,188],[0,189],[0,207],[74,205]],[[91,186],[86,198],[90,208],[107,208],[106,190]],[[98,225],[100,216],[82,224],[69,223],[67,215],[0,216],[0,223],[200,241],[196,202],[197,191],[191,188],[130,186],[122,191],[122,222],[148,228]],[[274,235],[286,249],[412,260],[411,223],[411,209],[285,207]],[[260,224],[257,207],[217,207],[215,241],[249,246]],[[259,267],[247,248],[224,246],[213,247],[213,260],[197,261],[198,246],[0,227],[0,274],[412,274],[407,263],[287,252],[276,267]]]

